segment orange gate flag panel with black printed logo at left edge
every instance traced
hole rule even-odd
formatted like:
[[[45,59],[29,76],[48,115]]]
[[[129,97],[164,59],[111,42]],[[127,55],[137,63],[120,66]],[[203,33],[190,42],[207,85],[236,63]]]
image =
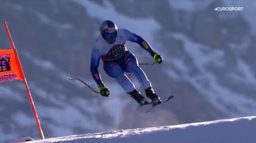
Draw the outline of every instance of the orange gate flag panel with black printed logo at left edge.
[[[24,73],[13,49],[0,50],[0,83],[24,79]]]

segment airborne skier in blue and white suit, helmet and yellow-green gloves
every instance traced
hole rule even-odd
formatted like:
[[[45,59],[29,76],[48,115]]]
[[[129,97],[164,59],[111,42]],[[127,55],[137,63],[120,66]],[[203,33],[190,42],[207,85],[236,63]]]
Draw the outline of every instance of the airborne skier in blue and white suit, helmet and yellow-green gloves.
[[[106,74],[115,78],[124,91],[131,95],[140,105],[148,104],[148,102],[135,89],[134,84],[124,72],[130,72],[135,75],[141,88],[145,91],[146,97],[151,99],[153,106],[160,104],[162,102],[161,99],[154,92],[151,82],[139,67],[135,55],[126,49],[127,41],[139,44],[153,56],[156,63],[162,63],[161,55],[156,53],[143,38],[126,29],[117,28],[116,24],[110,20],[103,21],[100,26],[100,36],[93,45],[91,56],[91,73],[98,84],[100,95],[105,97],[110,95],[110,91],[102,82],[98,72],[101,58]]]

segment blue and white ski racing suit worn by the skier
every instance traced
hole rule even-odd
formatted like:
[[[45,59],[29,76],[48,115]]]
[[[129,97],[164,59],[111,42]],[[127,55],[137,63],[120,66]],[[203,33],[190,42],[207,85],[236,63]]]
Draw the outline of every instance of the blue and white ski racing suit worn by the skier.
[[[112,44],[106,42],[100,35],[93,45],[91,55],[91,73],[97,84],[103,83],[98,72],[101,59],[106,74],[115,78],[126,93],[135,90],[135,86],[124,72],[133,73],[143,90],[151,87],[151,82],[139,67],[138,60],[132,52],[127,50],[127,41],[138,43],[151,55],[155,52],[143,38],[126,29],[117,29],[117,37]]]

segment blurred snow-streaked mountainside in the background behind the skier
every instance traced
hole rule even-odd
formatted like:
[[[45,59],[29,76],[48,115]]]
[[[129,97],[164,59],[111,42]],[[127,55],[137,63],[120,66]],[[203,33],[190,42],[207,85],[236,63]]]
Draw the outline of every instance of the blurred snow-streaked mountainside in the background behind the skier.
[[[256,114],[254,1],[0,1],[19,52],[46,138],[178,125]],[[214,11],[240,6],[244,11]],[[142,66],[169,104],[145,114],[113,78],[99,68],[111,92],[97,89],[90,73],[99,25],[111,19],[145,38],[164,59]],[[0,26],[1,49],[11,48]],[[154,62],[137,44],[127,48],[139,63]],[[138,82],[131,77],[139,89]],[[140,90],[141,91],[141,90]],[[143,93],[143,91],[141,91]],[[23,82],[0,84],[0,142],[39,139]]]

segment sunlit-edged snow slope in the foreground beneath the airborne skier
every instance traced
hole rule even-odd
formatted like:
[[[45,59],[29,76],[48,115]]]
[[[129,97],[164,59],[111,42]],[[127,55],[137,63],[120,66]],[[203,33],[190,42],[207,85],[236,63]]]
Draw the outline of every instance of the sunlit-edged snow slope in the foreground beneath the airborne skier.
[[[30,142],[255,142],[256,116],[175,126],[120,130]]]

